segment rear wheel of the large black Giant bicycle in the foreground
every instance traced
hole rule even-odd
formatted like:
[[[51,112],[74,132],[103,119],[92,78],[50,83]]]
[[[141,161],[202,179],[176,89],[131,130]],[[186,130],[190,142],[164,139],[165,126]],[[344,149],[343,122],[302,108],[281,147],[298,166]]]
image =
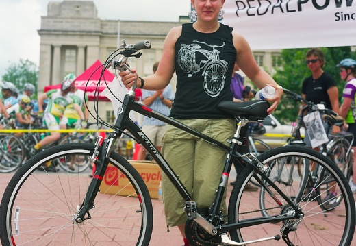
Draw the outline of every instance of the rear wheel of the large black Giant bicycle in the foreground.
[[[312,199],[310,193],[305,195],[305,175],[299,175],[297,169],[288,172],[291,174],[288,176],[283,170],[281,173],[266,171],[270,183],[261,187],[265,195],[264,206],[260,207],[259,193],[244,191],[244,188],[252,177],[257,180],[262,177],[247,167],[238,175],[233,187],[228,219],[229,223],[250,226],[231,230],[233,241],[252,241],[278,234],[281,240],[264,241],[263,245],[351,245],[355,232],[355,201],[340,169],[329,158],[305,147],[285,146],[266,151],[258,160],[264,167],[284,167],[283,170],[289,171],[292,162],[302,160],[302,167],[307,169],[303,173],[309,173],[312,164],[318,164],[320,172],[314,182],[314,188],[319,191],[316,196],[335,193],[342,201],[332,210],[325,210],[316,201],[318,197]]]

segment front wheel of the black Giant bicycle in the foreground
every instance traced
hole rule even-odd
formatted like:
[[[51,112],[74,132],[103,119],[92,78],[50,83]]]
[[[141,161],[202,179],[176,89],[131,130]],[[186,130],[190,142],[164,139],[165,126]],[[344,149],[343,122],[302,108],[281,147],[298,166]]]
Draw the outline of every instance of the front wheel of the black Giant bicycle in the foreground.
[[[60,156],[91,156],[94,147],[87,143],[51,147],[15,173],[1,200],[2,245],[149,245],[153,228],[149,191],[138,171],[117,153],[109,156],[116,169],[108,168],[103,176],[111,185],[100,187],[91,218],[82,223],[73,217],[84,201],[89,173],[38,170]],[[125,186],[110,193],[119,182]]]

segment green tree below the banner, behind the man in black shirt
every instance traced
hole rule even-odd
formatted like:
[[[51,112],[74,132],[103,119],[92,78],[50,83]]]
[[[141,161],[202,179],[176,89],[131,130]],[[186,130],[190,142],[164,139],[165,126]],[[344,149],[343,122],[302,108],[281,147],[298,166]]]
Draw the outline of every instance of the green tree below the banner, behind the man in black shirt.
[[[277,70],[273,78],[283,88],[301,94],[303,80],[312,75],[305,64],[305,53],[307,53],[308,49],[282,50],[282,69]],[[323,70],[331,74],[335,79],[339,89],[339,99],[341,99],[344,82],[340,79],[339,69],[336,68],[336,65],[344,58],[355,59],[356,52],[351,52],[350,47],[327,47],[320,49],[325,55],[325,67]],[[296,101],[284,96],[275,114],[282,121],[292,122],[296,120],[299,106],[301,106],[301,103],[296,103]]]

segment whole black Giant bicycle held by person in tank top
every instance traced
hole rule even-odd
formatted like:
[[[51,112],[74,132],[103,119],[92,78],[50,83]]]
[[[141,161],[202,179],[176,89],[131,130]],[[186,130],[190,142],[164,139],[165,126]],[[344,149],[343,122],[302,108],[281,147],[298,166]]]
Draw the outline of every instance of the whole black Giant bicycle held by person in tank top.
[[[151,47],[149,41],[120,45],[118,60],[109,58],[104,66],[129,69],[127,58],[140,57],[140,49]],[[104,69],[104,68],[103,68]],[[132,72],[132,71],[131,71]],[[218,108],[236,118],[236,134],[231,142],[220,143],[186,125],[160,114],[135,101],[134,85],[127,91],[113,131],[99,145],[72,143],[51,147],[38,153],[19,169],[5,189],[0,205],[1,243],[7,245],[149,245],[153,227],[151,197],[142,177],[122,156],[114,153],[114,143],[125,130],[154,158],[157,165],[173,182],[186,201],[186,236],[191,245],[351,245],[355,231],[355,201],[351,188],[340,169],[321,153],[305,147],[286,146],[271,149],[256,157],[240,154],[240,130],[247,123],[263,121],[270,107],[267,101],[236,103],[223,101]],[[121,100],[121,99],[120,99]],[[209,208],[199,208],[170,164],[155,145],[130,118],[133,110],[160,119],[222,149],[226,154],[221,163],[220,184]],[[98,119],[99,120],[99,119]],[[56,158],[81,154],[96,165],[92,178],[88,173],[44,173],[37,171],[43,163]],[[273,162],[292,159],[316,163],[322,170],[318,177],[323,192],[325,180],[343,199],[334,210],[323,211],[315,202],[302,199],[306,175],[293,180],[291,186],[279,186],[270,179],[268,167]],[[233,162],[244,169],[225,204],[229,173]],[[256,180],[273,201],[265,210],[275,210],[264,216],[259,208],[259,196],[244,191],[251,179]],[[103,186],[105,184],[105,186]],[[116,189],[112,190],[112,188]],[[277,212],[278,211],[278,212]],[[325,217],[327,214],[327,217]]]

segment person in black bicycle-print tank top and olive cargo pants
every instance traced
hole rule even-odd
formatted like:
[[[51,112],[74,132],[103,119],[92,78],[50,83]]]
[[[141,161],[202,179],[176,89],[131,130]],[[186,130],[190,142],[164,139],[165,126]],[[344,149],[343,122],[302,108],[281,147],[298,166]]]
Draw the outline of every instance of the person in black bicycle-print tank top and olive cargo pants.
[[[276,88],[275,97],[268,99],[272,102],[267,110],[268,114],[277,108],[283,88],[259,69],[246,40],[231,27],[218,22],[218,14],[225,0],[191,0],[191,3],[196,11],[197,21],[173,27],[168,32],[156,73],[138,79],[138,86],[146,90],[160,90],[168,85],[176,72],[177,90],[170,116],[227,144],[227,140],[236,131],[236,123],[216,106],[220,101],[233,101],[230,84],[234,63],[238,64],[258,88],[263,88],[266,84]],[[180,51],[184,51],[184,54],[191,53],[195,63],[188,64]],[[209,60],[212,58],[214,60]],[[209,64],[219,64],[219,74],[223,74],[223,84],[216,86],[218,90],[210,89],[207,85],[211,81],[206,81],[203,75],[205,66]],[[119,75],[127,88],[136,79],[136,75],[129,74],[128,71],[120,72]],[[220,182],[220,175],[216,173],[223,171],[227,154],[170,125],[166,127],[162,140],[162,153],[181,182],[192,193],[197,206],[209,208]],[[166,177],[162,180],[162,193],[167,226],[178,226],[185,245],[189,245],[184,232],[185,201]]]

